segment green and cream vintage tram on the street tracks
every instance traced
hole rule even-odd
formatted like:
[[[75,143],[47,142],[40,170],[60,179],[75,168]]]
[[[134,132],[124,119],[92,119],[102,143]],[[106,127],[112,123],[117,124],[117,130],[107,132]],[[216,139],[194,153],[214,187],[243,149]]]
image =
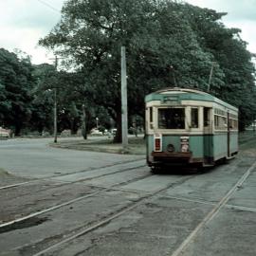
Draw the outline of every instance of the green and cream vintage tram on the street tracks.
[[[179,87],[145,97],[147,163],[213,166],[238,153],[238,109],[209,93]]]

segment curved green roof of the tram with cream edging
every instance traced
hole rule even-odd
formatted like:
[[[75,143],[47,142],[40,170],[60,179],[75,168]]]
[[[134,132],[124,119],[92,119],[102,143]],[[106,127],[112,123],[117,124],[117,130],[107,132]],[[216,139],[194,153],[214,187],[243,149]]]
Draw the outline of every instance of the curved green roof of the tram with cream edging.
[[[164,101],[168,99],[168,97],[174,96],[174,100],[179,101],[210,101],[210,102],[216,102],[218,104],[224,105],[228,107],[229,109],[232,109],[234,111],[238,111],[238,109],[229,103],[222,101],[209,93],[196,90],[196,89],[187,89],[187,88],[180,88],[180,87],[168,87],[164,88],[158,91],[155,91],[154,93],[151,93],[145,97],[145,101]],[[171,101],[172,101],[171,100]]]

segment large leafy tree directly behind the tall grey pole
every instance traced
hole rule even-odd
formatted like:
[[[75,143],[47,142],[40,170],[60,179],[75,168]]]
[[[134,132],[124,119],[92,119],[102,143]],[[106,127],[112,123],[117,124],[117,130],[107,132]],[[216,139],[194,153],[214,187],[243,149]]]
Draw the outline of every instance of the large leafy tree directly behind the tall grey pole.
[[[212,59],[170,1],[71,0],[40,44],[72,57],[84,76],[84,94],[104,106],[118,128],[120,46],[127,48],[130,114],[143,115],[145,94],[157,88],[204,87]]]

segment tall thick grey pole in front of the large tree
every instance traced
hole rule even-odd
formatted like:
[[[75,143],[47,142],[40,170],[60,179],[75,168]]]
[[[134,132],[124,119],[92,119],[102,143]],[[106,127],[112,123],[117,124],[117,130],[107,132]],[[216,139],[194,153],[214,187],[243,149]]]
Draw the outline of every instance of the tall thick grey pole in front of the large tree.
[[[121,46],[121,141],[122,149],[128,147],[127,127],[127,81],[126,81],[126,58],[125,46]]]

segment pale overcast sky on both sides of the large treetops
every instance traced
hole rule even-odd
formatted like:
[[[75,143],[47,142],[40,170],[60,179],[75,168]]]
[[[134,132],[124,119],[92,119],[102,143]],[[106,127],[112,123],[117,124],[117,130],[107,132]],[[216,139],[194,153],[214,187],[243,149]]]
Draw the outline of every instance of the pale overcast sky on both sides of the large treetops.
[[[242,29],[248,50],[256,53],[256,0],[188,0],[201,8],[229,14],[227,27]],[[0,0],[0,47],[19,48],[32,57],[33,64],[51,63],[52,54],[37,46],[61,18],[64,0]]]

